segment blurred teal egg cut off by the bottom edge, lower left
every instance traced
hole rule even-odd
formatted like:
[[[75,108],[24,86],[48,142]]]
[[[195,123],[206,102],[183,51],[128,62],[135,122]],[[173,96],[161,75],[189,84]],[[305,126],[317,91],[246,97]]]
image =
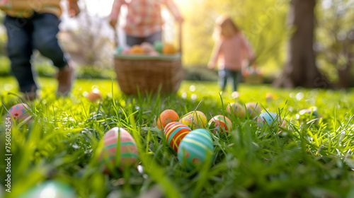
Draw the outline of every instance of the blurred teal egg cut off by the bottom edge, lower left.
[[[38,197],[55,197],[55,198],[75,198],[77,197],[74,189],[67,183],[57,180],[47,180],[35,185],[18,198],[38,198]]]

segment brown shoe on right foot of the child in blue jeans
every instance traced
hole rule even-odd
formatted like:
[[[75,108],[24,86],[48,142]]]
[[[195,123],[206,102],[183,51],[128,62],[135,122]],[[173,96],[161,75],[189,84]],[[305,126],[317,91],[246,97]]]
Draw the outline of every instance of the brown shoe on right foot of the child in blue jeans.
[[[72,82],[75,78],[75,69],[73,66],[64,67],[64,69],[59,69],[57,73],[58,89],[57,95],[68,95],[72,89]]]

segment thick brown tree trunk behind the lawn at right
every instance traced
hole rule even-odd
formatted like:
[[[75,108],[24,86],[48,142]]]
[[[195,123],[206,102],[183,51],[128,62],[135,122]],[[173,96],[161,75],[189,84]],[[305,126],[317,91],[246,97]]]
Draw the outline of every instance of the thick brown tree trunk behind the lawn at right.
[[[287,49],[287,62],[280,77],[273,83],[277,87],[329,88],[330,82],[322,76],[315,62],[314,6],[316,0],[290,1],[289,22],[294,30]]]

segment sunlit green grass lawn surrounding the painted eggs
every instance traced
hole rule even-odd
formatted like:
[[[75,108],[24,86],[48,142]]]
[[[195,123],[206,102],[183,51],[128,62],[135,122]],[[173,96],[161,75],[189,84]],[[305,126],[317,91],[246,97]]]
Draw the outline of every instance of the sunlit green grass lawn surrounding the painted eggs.
[[[16,81],[1,78],[0,192],[4,192],[5,108],[19,102]],[[67,98],[55,97],[55,80],[40,78],[41,97],[28,102],[34,122],[11,128],[11,193],[16,197],[45,180],[72,186],[77,197],[354,197],[353,91],[276,89],[241,84],[240,103],[258,102],[263,112],[280,112],[287,126],[259,128],[254,120],[227,115],[234,99],[216,82],[184,81],[173,95],[122,95],[115,81],[77,80]],[[103,100],[84,95],[96,87]],[[10,94],[9,94],[10,93]],[[272,93],[273,99],[265,94]],[[320,120],[299,115],[318,107]],[[187,171],[155,127],[159,112],[178,115],[200,110],[227,115],[234,125],[229,136],[214,139],[212,164]],[[103,134],[125,127],[137,141],[139,168],[103,173],[98,154]],[[291,140],[291,141],[289,141]],[[141,170],[143,168],[143,170]],[[138,171],[138,169],[140,171]],[[0,194],[1,197],[1,194]],[[152,197],[157,197],[153,195]]]

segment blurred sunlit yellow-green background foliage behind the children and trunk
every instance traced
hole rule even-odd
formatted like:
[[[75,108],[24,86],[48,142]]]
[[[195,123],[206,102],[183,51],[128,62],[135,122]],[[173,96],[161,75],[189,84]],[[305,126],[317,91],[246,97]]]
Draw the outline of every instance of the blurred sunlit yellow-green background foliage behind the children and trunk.
[[[257,66],[263,76],[270,82],[280,74],[287,56],[287,40],[294,30],[287,26],[290,0],[179,0],[175,2],[185,18],[183,66],[186,79],[208,81],[217,79],[217,73],[207,71],[206,65],[215,42],[212,39],[215,20],[220,14],[231,16],[248,38],[256,53]],[[338,71],[348,63],[351,67],[350,72],[354,73],[353,9],[353,0],[320,0],[316,3],[314,32],[316,64],[331,81],[338,81]],[[114,53],[113,37],[102,33],[106,31],[105,25],[108,25],[108,21],[102,16],[89,16],[85,7],[82,10],[81,17],[77,19],[78,30],[64,30],[64,33],[69,33],[71,36],[64,35],[59,38],[64,42],[67,42],[65,39],[69,39],[67,45],[69,48],[64,48],[79,49],[78,52],[71,52],[73,57],[79,59],[81,65],[79,78],[115,78],[113,60],[108,56]],[[1,13],[1,18],[4,18],[4,13]],[[66,19],[62,18],[62,20]],[[2,26],[1,24],[0,76],[6,76],[10,74],[10,67],[9,62],[6,61],[6,30]],[[92,28],[88,27],[96,28],[91,30]],[[45,66],[50,62],[40,56],[35,56],[34,63],[39,65],[37,68],[40,75],[50,76],[55,73],[55,69]]]

